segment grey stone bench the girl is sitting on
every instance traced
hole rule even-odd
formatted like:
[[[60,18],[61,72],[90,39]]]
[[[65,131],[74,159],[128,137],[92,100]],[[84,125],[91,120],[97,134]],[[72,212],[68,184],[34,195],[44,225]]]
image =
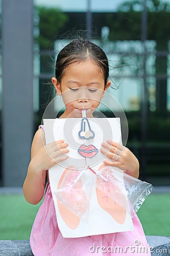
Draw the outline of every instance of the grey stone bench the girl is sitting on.
[[[152,256],[170,255],[170,237],[146,236]],[[33,256],[28,240],[1,240],[0,256]],[[121,255],[121,254],[120,254]],[[134,253],[134,255],[136,255]],[[139,253],[140,255],[140,253]]]

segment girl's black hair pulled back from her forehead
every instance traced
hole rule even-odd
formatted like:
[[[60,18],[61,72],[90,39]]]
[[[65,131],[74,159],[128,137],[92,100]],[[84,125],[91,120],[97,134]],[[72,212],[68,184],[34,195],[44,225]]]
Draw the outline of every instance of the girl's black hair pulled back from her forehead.
[[[92,60],[103,72],[104,83],[107,84],[109,76],[108,58],[103,49],[89,40],[80,38],[67,44],[59,53],[56,60],[56,79],[61,82],[65,69],[70,64]]]

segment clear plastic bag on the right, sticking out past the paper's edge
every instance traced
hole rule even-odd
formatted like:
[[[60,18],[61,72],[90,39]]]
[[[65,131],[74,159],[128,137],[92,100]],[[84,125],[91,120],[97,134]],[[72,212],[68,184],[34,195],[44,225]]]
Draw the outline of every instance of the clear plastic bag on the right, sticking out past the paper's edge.
[[[101,168],[99,173],[107,181],[96,175],[96,187],[128,210],[131,216],[133,209],[137,212],[146,197],[154,190],[152,184],[136,179],[117,167],[107,166]]]

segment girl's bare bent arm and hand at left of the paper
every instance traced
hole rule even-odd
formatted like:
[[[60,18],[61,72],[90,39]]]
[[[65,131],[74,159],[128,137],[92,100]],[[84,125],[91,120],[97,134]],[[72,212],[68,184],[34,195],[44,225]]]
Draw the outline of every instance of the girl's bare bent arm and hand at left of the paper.
[[[23,184],[25,199],[31,204],[37,204],[44,195],[46,170],[56,163],[67,159],[69,150],[63,140],[45,145],[45,134],[39,129],[33,138],[31,147],[31,162]]]

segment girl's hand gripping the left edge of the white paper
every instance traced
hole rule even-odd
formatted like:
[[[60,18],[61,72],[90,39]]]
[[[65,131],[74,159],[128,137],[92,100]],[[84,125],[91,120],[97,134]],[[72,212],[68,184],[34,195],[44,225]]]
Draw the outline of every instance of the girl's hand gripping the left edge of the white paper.
[[[55,164],[69,158],[66,153],[69,152],[68,144],[63,139],[54,141],[40,148],[39,152],[34,156],[32,161],[35,163],[36,170],[46,171]]]

